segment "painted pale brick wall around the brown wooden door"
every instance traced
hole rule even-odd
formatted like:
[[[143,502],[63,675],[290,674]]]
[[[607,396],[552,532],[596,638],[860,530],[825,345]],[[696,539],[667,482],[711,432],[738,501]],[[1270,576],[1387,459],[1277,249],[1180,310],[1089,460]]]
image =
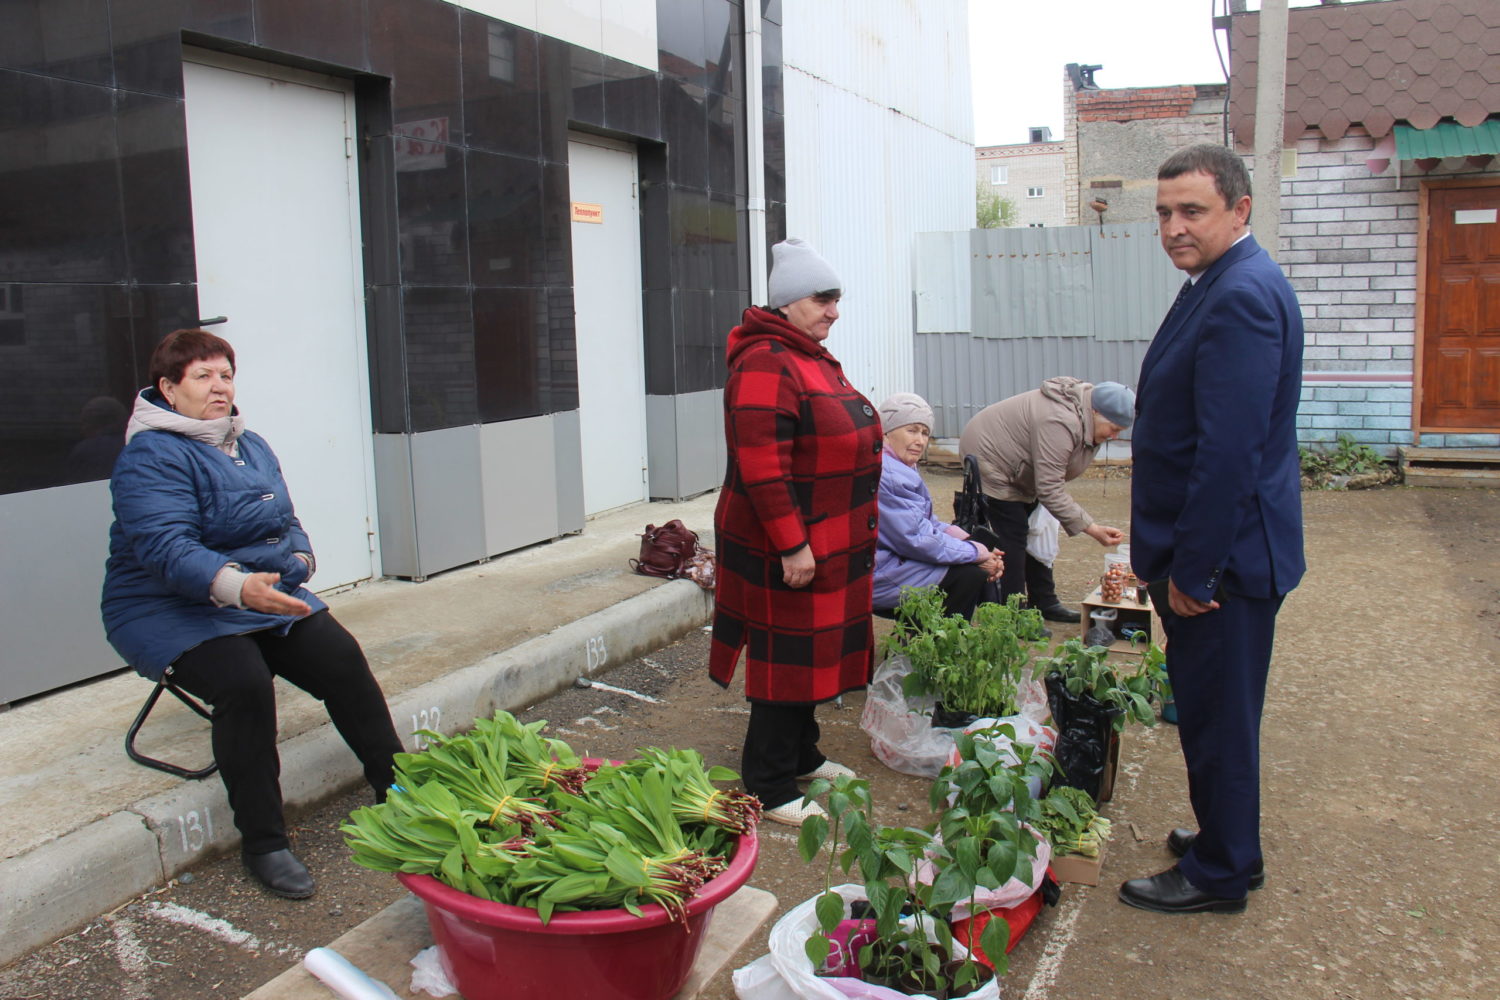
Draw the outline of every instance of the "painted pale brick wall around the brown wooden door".
[[[1496,171],[1462,159],[1428,174],[1404,163],[1398,183],[1394,163],[1371,172],[1365,160],[1372,147],[1359,126],[1341,139],[1306,133],[1298,141],[1296,175],[1281,183],[1278,259],[1306,328],[1299,439],[1330,442],[1347,433],[1390,454],[1413,444],[1420,178]],[[1500,435],[1424,433],[1418,444],[1492,448]]]

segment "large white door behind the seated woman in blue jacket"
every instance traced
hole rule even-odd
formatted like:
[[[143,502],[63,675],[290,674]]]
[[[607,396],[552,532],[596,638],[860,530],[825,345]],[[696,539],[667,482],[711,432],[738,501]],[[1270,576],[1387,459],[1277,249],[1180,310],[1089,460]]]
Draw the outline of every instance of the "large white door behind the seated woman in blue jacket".
[[[228,316],[212,330],[234,345],[249,429],[280,459],[315,586],[369,579],[380,565],[352,93],[238,63],[188,63],[183,85],[198,307]]]

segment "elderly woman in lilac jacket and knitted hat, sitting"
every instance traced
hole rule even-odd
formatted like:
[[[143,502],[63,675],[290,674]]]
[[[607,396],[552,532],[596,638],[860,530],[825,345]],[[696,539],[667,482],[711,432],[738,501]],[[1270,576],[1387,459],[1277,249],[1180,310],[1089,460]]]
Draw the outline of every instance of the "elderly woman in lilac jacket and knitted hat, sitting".
[[[885,430],[880,471],[880,531],[874,550],[874,607],[892,609],[908,586],[938,585],[948,615],[969,618],[984,585],[1005,568],[1000,552],[969,540],[962,528],[933,517],[933,498],[916,471],[932,439],[933,411],[915,393],[880,403]]]

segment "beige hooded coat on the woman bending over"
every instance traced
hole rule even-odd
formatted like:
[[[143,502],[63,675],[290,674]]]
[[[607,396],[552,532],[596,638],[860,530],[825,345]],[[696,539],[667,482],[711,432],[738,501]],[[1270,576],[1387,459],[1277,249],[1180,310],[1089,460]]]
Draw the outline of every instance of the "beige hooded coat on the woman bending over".
[[[1064,487],[1083,475],[1098,451],[1092,402],[1092,382],[1059,375],[976,412],[958,438],[958,450],[980,460],[984,495],[1040,501],[1070,535],[1092,525]]]

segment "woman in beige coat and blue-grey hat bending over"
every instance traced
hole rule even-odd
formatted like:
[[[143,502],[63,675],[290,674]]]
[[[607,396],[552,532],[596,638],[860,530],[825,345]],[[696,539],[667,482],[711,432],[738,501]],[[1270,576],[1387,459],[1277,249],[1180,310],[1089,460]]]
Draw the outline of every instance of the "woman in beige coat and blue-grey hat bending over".
[[[986,406],[964,426],[958,451],[980,463],[980,484],[990,531],[1000,538],[1005,573],[1000,600],[1026,594],[1030,606],[1054,622],[1076,622],[1052,588],[1052,571],[1026,555],[1026,522],[1036,504],[1068,535],[1086,534],[1101,546],[1125,541],[1119,528],[1101,525],[1068,495],[1065,484],[1083,475],[1094,454],[1136,420],[1136,393],[1119,382],[1082,382],[1066,375],[1041,388]]]

